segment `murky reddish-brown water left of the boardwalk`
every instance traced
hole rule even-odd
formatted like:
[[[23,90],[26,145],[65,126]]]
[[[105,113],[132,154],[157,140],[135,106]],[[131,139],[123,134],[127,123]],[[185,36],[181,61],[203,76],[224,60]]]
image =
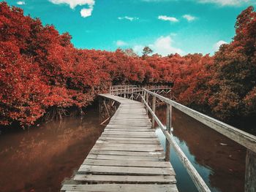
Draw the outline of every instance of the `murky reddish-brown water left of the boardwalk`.
[[[89,110],[28,131],[0,135],[0,191],[59,191],[91,150],[102,127]]]

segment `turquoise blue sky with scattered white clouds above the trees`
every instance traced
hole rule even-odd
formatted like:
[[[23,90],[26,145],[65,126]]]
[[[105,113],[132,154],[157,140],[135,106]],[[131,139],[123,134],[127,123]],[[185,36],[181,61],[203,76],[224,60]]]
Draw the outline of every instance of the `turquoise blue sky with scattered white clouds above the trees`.
[[[211,53],[232,41],[237,15],[256,0],[7,0],[69,32],[78,48],[144,46],[154,53]]]

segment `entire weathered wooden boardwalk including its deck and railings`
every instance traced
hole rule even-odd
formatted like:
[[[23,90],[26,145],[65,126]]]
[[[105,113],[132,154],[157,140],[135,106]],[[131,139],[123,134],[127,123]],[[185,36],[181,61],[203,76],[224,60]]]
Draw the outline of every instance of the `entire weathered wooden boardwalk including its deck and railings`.
[[[61,191],[178,191],[175,173],[170,165],[172,147],[197,190],[210,192],[208,185],[173,139],[171,129],[174,107],[246,147],[244,191],[256,192],[256,137],[157,94],[163,92],[170,93],[170,88],[146,89],[136,85],[117,85],[110,87],[110,94],[100,94],[99,101],[104,99],[102,103],[108,113],[107,120],[111,116],[111,109],[116,109],[116,102],[119,107],[75,174],[73,181],[76,184],[63,185]],[[141,103],[132,100],[138,98]],[[106,104],[107,100],[109,104]],[[166,126],[155,114],[159,101],[166,104]],[[99,111],[102,112],[102,107],[99,107]],[[152,123],[148,113],[151,114]],[[165,135],[165,153],[152,128],[155,123]]]

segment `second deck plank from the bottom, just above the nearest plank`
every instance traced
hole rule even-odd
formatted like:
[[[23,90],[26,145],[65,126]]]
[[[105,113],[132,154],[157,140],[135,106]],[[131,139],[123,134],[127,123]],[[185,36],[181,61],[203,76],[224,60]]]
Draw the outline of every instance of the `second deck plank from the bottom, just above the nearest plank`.
[[[169,183],[175,184],[176,179],[171,175],[136,176],[136,175],[100,175],[76,174],[74,180],[91,183]]]

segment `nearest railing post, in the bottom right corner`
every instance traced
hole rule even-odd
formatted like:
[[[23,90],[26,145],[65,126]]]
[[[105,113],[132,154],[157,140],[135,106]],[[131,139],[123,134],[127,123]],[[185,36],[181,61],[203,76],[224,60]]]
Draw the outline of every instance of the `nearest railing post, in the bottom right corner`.
[[[245,192],[256,192],[256,153],[247,149],[245,161]]]

